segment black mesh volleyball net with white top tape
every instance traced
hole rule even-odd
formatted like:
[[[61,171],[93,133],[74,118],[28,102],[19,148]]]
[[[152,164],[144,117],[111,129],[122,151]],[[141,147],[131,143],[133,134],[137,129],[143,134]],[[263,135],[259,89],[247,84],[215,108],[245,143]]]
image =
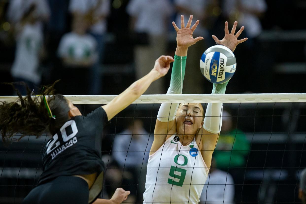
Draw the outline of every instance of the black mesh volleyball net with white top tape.
[[[86,115],[115,95],[66,96]],[[12,102],[16,96],[0,96]],[[223,102],[222,130],[201,203],[300,203],[300,172],[306,167],[306,94],[142,95],[105,127],[103,198],[117,187],[125,202],[142,203],[148,154],[161,103]],[[20,135],[16,135],[19,138]],[[0,203],[20,203],[37,185],[43,148],[50,136],[28,135],[0,144]],[[157,166],[158,168],[158,166]]]

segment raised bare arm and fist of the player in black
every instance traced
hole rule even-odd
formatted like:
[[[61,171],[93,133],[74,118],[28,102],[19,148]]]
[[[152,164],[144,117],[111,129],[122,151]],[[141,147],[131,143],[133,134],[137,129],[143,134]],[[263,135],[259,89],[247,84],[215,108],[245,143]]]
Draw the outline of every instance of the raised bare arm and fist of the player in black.
[[[170,63],[174,59],[171,56],[161,56],[155,61],[154,68],[146,76],[132,83],[125,91],[115,97],[109,104],[102,106],[107,114],[108,120],[112,119],[121,110],[129,106],[133,101],[139,98],[150,84],[165,76],[170,68]]]

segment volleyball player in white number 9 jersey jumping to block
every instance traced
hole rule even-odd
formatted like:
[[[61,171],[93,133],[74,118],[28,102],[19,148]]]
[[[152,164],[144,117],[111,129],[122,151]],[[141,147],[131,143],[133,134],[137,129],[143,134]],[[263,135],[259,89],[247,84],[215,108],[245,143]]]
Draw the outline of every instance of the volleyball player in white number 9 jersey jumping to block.
[[[177,48],[167,94],[182,93],[188,47],[203,39],[193,39],[192,33],[199,20],[190,28],[191,22],[192,16],[185,27],[184,16],[181,16],[181,29],[172,23],[177,31]],[[234,51],[237,44],[246,41],[247,38],[237,39],[244,27],[235,35],[236,26],[237,21],[229,33],[225,22],[224,38],[220,41],[213,35],[216,43]],[[214,84],[212,93],[224,94],[226,84]],[[147,165],[145,204],[200,201],[221,129],[222,103],[209,103],[204,120],[203,116],[204,110],[200,103],[160,106]]]

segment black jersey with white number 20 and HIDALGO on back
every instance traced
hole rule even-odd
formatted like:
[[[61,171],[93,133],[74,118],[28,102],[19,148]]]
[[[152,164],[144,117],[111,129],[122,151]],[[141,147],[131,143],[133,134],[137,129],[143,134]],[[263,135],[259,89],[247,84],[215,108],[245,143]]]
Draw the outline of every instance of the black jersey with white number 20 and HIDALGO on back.
[[[101,160],[103,127],[108,124],[102,107],[86,117],[76,116],[67,121],[50,139],[43,151],[43,173],[38,184],[47,183],[58,176],[92,174],[98,177],[89,190],[89,202],[102,191],[105,166]]]

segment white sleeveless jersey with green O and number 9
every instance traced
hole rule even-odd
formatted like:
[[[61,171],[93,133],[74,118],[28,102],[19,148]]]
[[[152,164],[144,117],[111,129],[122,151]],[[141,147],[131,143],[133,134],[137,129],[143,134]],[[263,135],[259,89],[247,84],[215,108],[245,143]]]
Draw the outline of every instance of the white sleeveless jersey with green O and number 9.
[[[183,146],[172,135],[149,156],[144,204],[198,203],[208,171],[196,140]]]

